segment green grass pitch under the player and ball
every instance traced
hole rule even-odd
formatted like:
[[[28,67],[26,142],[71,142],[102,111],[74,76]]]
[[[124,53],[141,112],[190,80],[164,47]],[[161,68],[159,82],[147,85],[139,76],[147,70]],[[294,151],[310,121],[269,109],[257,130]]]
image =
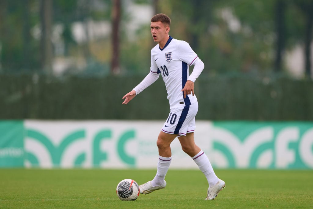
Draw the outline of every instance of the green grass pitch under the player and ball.
[[[116,186],[151,180],[156,170],[0,169],[0,208],[313,208],[313,170],[215,170],[226,188],[204,201],[200,170],[167,173],[167,187],[121,201]]]

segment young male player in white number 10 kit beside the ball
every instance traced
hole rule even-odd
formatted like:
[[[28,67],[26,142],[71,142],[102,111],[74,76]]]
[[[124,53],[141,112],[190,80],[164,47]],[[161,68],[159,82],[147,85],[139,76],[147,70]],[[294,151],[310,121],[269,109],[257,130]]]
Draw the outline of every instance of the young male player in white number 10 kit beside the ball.
[[[195,116],[198,101],[194,95],[194,82],[204,68],[203,62],[185,41],[169,36],[171,19],[165,14],[151,18],[151,34],[158,44],[151,50],[149,74],[123,99],[122,104],[130,102],[137,94],[155,82],[161,74],[166,85],[170,113],[157,138],[159,160],[153,180],[140,185],[141,194],[149,194],[166,186],[165,175],[171,164],[170,144],[178,138],[182,150],[187,153],[208,180],[208,195],[205,200],[214,200],[225,187],[225,182],[214,173],[206,154],[194,142]],[[189,76],[189,65],[194,65]]]

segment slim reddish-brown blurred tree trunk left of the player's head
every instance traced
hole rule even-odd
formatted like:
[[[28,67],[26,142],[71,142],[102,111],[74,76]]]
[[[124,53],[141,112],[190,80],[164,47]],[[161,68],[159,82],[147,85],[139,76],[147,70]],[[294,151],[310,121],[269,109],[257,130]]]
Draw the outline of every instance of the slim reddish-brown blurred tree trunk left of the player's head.
[[[121,20],[121,0],[114,0],[112,10],[112,58],[111,72],[120,73],[120,37],[119,27]]]

